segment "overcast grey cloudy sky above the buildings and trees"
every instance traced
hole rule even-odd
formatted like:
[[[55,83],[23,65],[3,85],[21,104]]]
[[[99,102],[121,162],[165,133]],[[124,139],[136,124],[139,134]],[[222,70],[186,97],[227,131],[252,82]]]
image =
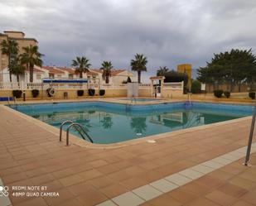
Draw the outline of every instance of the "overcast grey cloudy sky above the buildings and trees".
[[[0,32],[24,31],[39,41],[44,65],[69,66],[85,55],[94,68],[111,60],[130,69],[136,53],[148,72],[204,66],[231,48],[256,53],[256,0],[0,0]]]

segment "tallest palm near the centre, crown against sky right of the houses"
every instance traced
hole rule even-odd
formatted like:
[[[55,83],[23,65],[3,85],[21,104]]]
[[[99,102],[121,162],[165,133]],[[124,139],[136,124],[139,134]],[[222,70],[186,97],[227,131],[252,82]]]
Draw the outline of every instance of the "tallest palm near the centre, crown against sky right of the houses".
[[[147,71],[147,57],[136,54],[135,60],[131,60],[131,67],[133,71],[138,72],[138,83],[141,83],[141,74],[142,71]]]

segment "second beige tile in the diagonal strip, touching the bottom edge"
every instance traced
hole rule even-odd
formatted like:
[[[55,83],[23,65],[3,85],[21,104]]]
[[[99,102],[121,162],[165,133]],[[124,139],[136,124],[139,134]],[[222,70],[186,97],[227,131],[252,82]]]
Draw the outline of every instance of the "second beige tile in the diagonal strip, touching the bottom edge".
[[[136,206],[145,202],[144,199],[139,198],[136,194],[133,194],[132,192],[121,194],[112,200],[119,206]]]

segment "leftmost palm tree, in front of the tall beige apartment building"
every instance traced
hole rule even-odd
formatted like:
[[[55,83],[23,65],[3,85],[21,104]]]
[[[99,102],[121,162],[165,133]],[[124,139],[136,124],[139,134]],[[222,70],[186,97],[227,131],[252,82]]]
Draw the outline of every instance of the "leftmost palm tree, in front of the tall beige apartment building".
[[[17,55],[17,53],[19,51],[17,41],[3,40],[1,42],[1,46],[2,46],[2,49],[1,49],[2,55],[8,56],[8,66],[9,66],[9,65],[11,65],[11,60],[12,60],[13,56]],[[10,75],[10,81],[12,82],[12,72],[10,69],[9,69],[9,75]]]

